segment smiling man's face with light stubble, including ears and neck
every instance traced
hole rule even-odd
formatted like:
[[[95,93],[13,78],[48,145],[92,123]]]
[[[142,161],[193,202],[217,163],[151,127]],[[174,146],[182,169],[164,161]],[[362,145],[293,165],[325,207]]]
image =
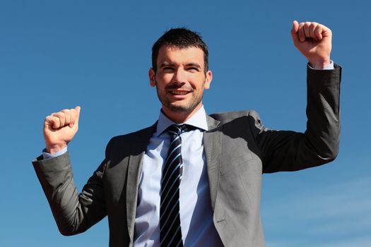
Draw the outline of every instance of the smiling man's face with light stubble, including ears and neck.
[[[204,71],[204,52],[197,47],[161,47],[157,71],[151,68],[148,74],[163,112],[175,122],[186,121],[201,108],[212,79],[211,71]]]

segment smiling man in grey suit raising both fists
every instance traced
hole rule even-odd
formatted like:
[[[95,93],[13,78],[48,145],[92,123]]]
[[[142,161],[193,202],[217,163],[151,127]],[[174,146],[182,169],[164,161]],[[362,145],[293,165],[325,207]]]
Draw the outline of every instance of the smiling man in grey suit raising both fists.
[[[107,215],[110,246],[264,246],[261,174],[325,164],[338,152],[341,68],[330,60],[331,30],[294,21],[291,35],[309,61],[305,133],[269,130],[254,111],[206,115],[207,47],[182,28],[153,45],[158,121],[112,138],[80,195],[66,152],[80,107],[47,116],[46,150],[33,164],[59,231],[78,234]]]

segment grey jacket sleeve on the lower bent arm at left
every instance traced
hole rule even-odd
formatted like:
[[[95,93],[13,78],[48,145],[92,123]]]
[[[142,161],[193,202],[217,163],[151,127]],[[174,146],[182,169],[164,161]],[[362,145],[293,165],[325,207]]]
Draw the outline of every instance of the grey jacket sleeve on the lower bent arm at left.
[[[104,160],[78,193],[68,152],[50,159],[40,156],[33,161],[61,234],[79,234],[107,215],[102,184],[105,163]]]

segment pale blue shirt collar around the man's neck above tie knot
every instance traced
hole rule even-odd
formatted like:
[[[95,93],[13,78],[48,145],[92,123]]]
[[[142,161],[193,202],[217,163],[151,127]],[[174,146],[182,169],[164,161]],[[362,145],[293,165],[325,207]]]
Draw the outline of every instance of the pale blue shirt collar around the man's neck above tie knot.
[[[201,128],[201,130],[207,131],[208,125],[206,121],[206,112],[204,109],[204,106],[202,106],[191,118],[189,118],[187,121],[184,122],[185,124],[192,125],[196,128]],[[175,124],[173,121],[171,121],[165,114],[163,114],[163,111],[160,111],[160,116],[158,116],[158,123],[157,123],[157,129],[156,132],[153,134],[155,136],[160,135],[165,131],[167,127],[170,125]]]

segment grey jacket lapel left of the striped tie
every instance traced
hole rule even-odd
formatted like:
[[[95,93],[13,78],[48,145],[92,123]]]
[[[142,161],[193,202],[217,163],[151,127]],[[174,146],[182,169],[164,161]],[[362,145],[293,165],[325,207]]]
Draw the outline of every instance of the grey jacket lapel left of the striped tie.
[[[139,131],[131,141],[131,155],[129,157],[129,167],[126,186],[126,215],[127,227],[131,240],[134,241],[134,224],[136,217],[136,203],[138,200],[138,186],[141,177],[142,160],[146,152],[148,142],[155,132],[157,122],[148,128]],[[131,241],[131,243],[132,243]]]

